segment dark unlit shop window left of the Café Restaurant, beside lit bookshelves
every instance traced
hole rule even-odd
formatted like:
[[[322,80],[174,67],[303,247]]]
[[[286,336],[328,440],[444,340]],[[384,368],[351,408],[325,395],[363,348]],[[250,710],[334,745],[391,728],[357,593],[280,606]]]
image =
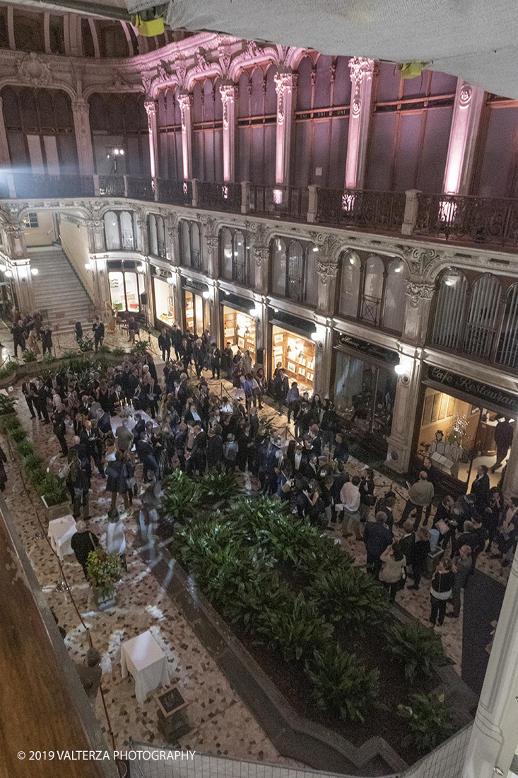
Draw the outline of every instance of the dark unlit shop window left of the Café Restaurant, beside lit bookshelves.
[[[397,376],[390,367],[337,352],[334,404],[360,436],[386,440],[392,429]]]

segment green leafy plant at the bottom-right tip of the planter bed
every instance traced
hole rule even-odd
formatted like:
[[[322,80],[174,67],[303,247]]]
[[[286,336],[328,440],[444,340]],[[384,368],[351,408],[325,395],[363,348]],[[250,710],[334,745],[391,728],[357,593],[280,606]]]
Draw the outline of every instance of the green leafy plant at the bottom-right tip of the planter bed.
[[[436,748],[456,729],[443,694],[417,692],[411,696],[410,705],[398,705],[397,711],[408,720],[409,732],[402,744],[422,752]]]

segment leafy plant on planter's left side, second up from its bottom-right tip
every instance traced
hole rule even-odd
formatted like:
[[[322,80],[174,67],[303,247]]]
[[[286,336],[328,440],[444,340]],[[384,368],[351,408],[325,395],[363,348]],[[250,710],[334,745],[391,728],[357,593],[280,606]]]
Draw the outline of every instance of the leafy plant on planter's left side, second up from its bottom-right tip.
[[[378,670],[367,670],[355,654],[328,643],[306,662],[313,683],[313,698],[324,710],[340,713],[344,720],[364,721],[380,695]]]

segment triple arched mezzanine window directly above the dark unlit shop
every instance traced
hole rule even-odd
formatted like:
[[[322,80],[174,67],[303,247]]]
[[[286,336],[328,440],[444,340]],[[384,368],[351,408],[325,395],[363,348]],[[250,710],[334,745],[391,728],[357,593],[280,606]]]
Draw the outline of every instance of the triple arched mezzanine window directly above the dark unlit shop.
[[[406,278],[402,260],[349,249],[341,256],[338,310],[362,324],[401,332]]]

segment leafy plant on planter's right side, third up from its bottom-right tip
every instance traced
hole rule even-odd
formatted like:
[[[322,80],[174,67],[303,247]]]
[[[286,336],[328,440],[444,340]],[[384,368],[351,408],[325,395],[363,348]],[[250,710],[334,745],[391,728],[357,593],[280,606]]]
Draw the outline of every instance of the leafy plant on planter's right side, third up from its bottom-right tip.
[[[387,592],[359,567],[338,566],[317,574],[308,590],[319,613],[352,632],[381,622],[389,612]]]

